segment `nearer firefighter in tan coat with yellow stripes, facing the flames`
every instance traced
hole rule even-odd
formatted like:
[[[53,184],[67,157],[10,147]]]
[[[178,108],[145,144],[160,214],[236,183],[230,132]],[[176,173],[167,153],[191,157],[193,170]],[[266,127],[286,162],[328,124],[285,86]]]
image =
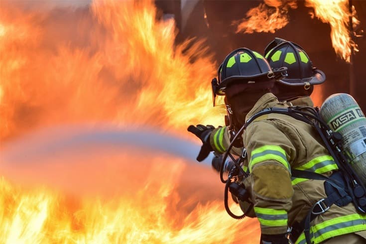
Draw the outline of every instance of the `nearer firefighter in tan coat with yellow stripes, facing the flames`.
[[[260,54],[240,48],[225,58],[213,90],[215,95],[225,96],[232,121],[240,126],[263,109],[289,107],[270,93],[281,76],[285,76],[283,69],[271,70]],[[226,126],[188,127],[203,142],[200,159],[210,151],[223,153],[228,148],[228,130]],[[263,115],[247,125],[243,146],[250,173],[244,185],[260,223],[262,244],[289,243],[291,227],[293,241],[307,243],[304,220],[314,206],[314,213],[319,215],[312,215],[307,235],[311,243],[366,243],[366,215],[357,211],[353,203],[326,206],[324,180],[291,177],[291,169],[325,176],[339,170],[312,125],[288,115]]]

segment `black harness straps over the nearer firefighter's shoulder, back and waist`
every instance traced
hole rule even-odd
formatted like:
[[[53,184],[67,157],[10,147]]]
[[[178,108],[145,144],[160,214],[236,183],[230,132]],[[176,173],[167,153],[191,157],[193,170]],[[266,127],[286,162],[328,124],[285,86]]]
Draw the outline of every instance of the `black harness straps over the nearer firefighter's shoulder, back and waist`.
[[[305,109],[306,112],[302,111]],[[268,108],[260,111],[259,113],[252,116],[247,122],[244,124],[244,128],[246,128],[251,122],[253,122],[256,118],[266,114],[283,114],[290,116],[296,120],[306,122],[310,125],[313,125],[315,129],[318,131],[321,136],[326,148],[329,153],[335,160],[338,168],[343,172],[346,187],[343,189],[339,182],[335,182],[334,180],[326,177],[324,175],[311,172],[311,171],[303,171],[303,170],[291,170],[292,176],[297,178],[306,178],[306,179],[315,179],[315,180],[325,180],[329,182],[336,190],[332,192],[327,198],[323,198],[315,203],[305,220],[300,223],[300,226],[304,226],[304,234],[307,244],[311,244],[310,238],[310,222],[318,215],[323,214],[328,211],[331,205],[340,200],[341,198],[349,195],[352,198],[352,202],[356,206],[358,210],[362,213],[366,212],[366,206],[361,206],[359,204],[359,200],[364,198],[366,195],[366,188],[360,180],[359,176],[352,169],[350,164],[347,162],[346,157],[343,155],[342,150],[340,149],[339,143],[341,142],[342,137],[339,133],[333,132],[330,127],[320,118],[318,112],[314,108],[310,107],[293,107],[293,108]]]

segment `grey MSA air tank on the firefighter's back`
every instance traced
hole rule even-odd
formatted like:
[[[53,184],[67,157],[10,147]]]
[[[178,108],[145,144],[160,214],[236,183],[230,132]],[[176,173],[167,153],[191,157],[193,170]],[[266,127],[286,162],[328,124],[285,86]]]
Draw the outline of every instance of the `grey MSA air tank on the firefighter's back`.
[[[366,184],[366,118],[360,106],[351,95],[337,93],[324,101],[320,116],[342,134],[343,154]]]

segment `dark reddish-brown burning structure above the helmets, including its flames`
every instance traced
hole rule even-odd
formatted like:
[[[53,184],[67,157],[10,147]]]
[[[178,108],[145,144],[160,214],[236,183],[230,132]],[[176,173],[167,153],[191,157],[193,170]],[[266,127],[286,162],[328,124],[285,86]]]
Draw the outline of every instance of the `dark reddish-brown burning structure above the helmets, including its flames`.
[[[364,1],[263,0],[239,3],[235,0],[182,0],[174,6],[169,1],[157,2],[165,12],[173,12],[177,9],[175,5],[181,5],[181,12],[175,16],[183,35],[206,37],[216,60],[223,60],[227,53],[241,46],[264,50],[266,43],[274,37],[299,43],[312,57],[314,65],[327,75],[327,82],[313,95],[313,100],[318,101],[316,105],[331,94],[349,92],[365,110],[366,101],[361,92],[365,89],[362,78],[365,76],[362,57],[366,45]],[[351,9],[349,2],[354,6]],[[352,35],[349,32],[351,11],[354,14]],[[359,50],[352,61],[351,47]],[[335,70],[342,72],[335,73]]]

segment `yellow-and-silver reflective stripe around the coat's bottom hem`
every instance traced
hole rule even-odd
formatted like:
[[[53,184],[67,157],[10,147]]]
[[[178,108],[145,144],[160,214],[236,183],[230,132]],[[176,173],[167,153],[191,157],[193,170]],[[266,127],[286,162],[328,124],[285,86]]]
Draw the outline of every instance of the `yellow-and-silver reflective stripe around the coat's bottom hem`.
[[[366,215],[352,214],[324,221],[310,228],[311,241],[321,243],[329,238],[366,230]],[[296,244],[306,244],[302,233]]]

